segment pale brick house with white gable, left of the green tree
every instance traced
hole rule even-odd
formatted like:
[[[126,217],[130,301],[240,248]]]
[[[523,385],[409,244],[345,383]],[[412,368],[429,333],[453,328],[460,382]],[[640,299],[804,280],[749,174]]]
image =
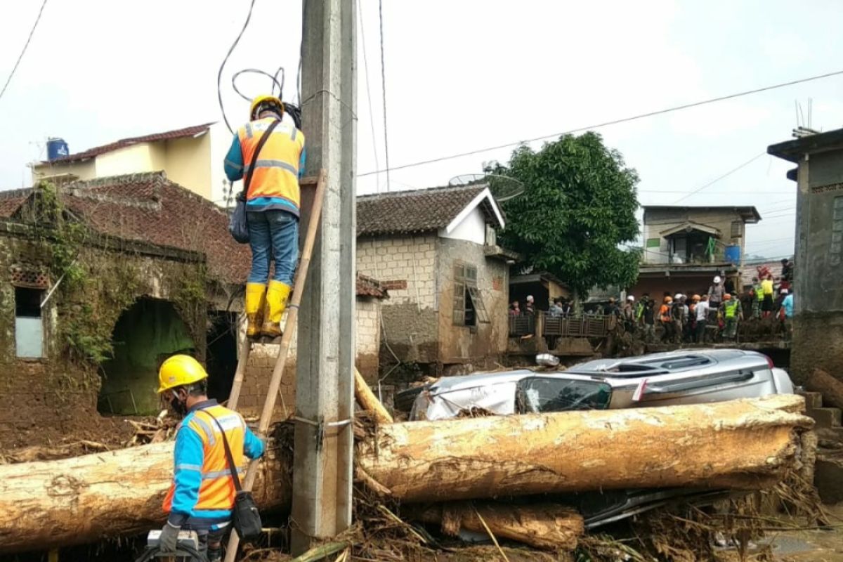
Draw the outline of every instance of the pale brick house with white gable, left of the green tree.
[[[486,185],[357,198],[357,271],[389,290],[384,361],[438,372],[506,352],[514,254],[497,246],[503,226]]]

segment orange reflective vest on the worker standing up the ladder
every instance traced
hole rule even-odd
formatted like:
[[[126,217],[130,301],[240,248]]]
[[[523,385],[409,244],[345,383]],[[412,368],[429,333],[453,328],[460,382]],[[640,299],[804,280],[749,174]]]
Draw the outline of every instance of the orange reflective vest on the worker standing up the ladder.
[[[249,173],[249,166],[255,154],[260,137],[274,119],[266,117],[250,121],[237,131],[240,149],[243,152],[243,174]],[[299,163],[304,150],[304,133],[285,122],[279,123],[260,149],[252,174],[246,201],[269,198],[266,202],[286,202],[290,211],[298,216],[300,201],[298,189]]]

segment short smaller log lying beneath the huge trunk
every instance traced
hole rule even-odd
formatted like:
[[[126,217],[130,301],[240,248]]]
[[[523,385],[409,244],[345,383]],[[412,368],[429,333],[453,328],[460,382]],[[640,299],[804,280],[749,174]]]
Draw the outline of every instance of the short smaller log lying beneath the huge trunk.
[[[491,501],[455,501],[416,511],[421,522],[440,523],[443,533],[455,537],[460,529],[508,538],[536,549],[573,550],[585,532],[583,517],[556,504],[514,506]],[[483,517],[481,522],[480,517]]]

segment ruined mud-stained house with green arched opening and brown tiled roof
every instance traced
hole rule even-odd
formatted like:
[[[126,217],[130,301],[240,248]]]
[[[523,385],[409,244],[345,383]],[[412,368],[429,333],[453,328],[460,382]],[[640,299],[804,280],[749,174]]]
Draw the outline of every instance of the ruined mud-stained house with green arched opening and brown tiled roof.
[[[0,192],[0,368],[16,404],[0,414],[0,443],[60,442],[110,431],[120,420],[110,415],[157,414],[158,366],[177,352],[204,362],[209,393],[227,399],[249,268],[225,213],[163,172]],[[368,278],[357,291],[371,378],[387,293]],[[246,411],[260,408],[277,356],[260,347]]]

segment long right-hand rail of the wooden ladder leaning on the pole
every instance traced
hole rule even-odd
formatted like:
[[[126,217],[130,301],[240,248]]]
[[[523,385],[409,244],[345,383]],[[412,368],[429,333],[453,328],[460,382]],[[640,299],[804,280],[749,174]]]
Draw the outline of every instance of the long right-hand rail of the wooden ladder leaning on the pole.
[[[290,342],[293,340],[293,334],[296,333],[296,325],[298,323],[298,307],[302,302],[302,293],[304,292],[305,282],[308,279],[308,270],[310,267],[310,257],[314,251],[314,244],[316,243],[316,233],[319,230],[319,220],[322,217],[322,203],[325,201],[325,169],[319,170],[319,180],[316,182],[316,192],[314,193],[314,204],[310,209],[310,219],[308,222],[308,233],[304,238],[304,245],[302,248],[302,257],[298,260],[298,272],[296,274],[296,282],[293,286],[293,298],[290,299],[290,304],[287,306],[287,322],[284,324],[284,333],[281,336],[281,345],[278,345],[278,356],[275,361],[275,367],[272,369],[272,377],[269,381],[269,389],[266,391],[266,399],[264,400],[263,410],[260,412],[260,422],[258,422],[258,436],[265,437],[266,431],[272,420],[272,413],[275,410],[275,401],[278,397],[278,390],[281,388],[281,378],[284,375],[284,366],[287,365],[287,355],[290,350]],[[252,485],[255,484],[255,477],[257,476],[260,459],[255,459],[249,463],[249,468],[246,470],[246,477],[243,479],[243,489],[251,490]],[[240,538],[237,532],[231,533],[228,538],[228,549],[225,553],[225,562],[234,562],[237,557],[237,547],[239,546]]]

